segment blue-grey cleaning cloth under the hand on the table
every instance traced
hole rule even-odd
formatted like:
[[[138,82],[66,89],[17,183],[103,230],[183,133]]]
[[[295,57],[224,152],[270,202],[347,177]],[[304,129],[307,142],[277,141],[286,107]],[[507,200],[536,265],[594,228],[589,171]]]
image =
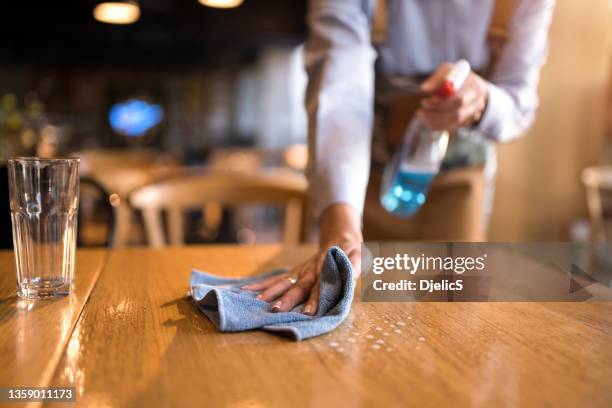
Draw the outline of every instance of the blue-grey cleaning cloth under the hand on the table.
[[[327,251],[315,316],[301,313],[302,305],[290,312],[273,313],[272,304],[255,299],[257,292],[240,289],[285,272],[286,269],[279,269],[252,278],[227,279],[193,270],[191,296],[197,308],[222,332],[263,329],[300,341],[332,331],[346,318],[355,283],[351,263],[340,248],[332,247]]]

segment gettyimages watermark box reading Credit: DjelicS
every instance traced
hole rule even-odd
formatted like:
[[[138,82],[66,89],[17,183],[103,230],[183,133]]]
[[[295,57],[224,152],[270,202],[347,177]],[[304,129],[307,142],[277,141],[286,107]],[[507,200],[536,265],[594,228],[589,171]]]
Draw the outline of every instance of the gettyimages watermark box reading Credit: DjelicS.
[[[362,301],[612,300],[612,245],[368,242]]]

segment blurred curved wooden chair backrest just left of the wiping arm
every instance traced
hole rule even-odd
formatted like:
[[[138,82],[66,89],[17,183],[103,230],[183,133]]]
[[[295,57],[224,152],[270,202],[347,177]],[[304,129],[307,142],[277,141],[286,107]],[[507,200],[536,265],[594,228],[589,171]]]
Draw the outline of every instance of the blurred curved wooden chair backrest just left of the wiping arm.
[[[147,241],[153,247],[167,245],[162,211],[168,216],[169,242],[184,243],[183,213],[206,204],[284,206],[283,242],[296,244],[304,236],[306,180],[303,176],[271,172],[211,172],[164,180],[142,187],[130,195],[133,208],[142,211]]]

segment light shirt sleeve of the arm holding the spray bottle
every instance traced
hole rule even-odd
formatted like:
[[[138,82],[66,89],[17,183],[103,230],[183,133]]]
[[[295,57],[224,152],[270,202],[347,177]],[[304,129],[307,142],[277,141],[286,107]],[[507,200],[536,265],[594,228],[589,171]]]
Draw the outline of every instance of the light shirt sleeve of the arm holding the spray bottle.
[[[554,0],[516,2],[509,39],[489,77],[487,108],[477,125],[491,139],[510,141],[533,124],[554,3]]]

